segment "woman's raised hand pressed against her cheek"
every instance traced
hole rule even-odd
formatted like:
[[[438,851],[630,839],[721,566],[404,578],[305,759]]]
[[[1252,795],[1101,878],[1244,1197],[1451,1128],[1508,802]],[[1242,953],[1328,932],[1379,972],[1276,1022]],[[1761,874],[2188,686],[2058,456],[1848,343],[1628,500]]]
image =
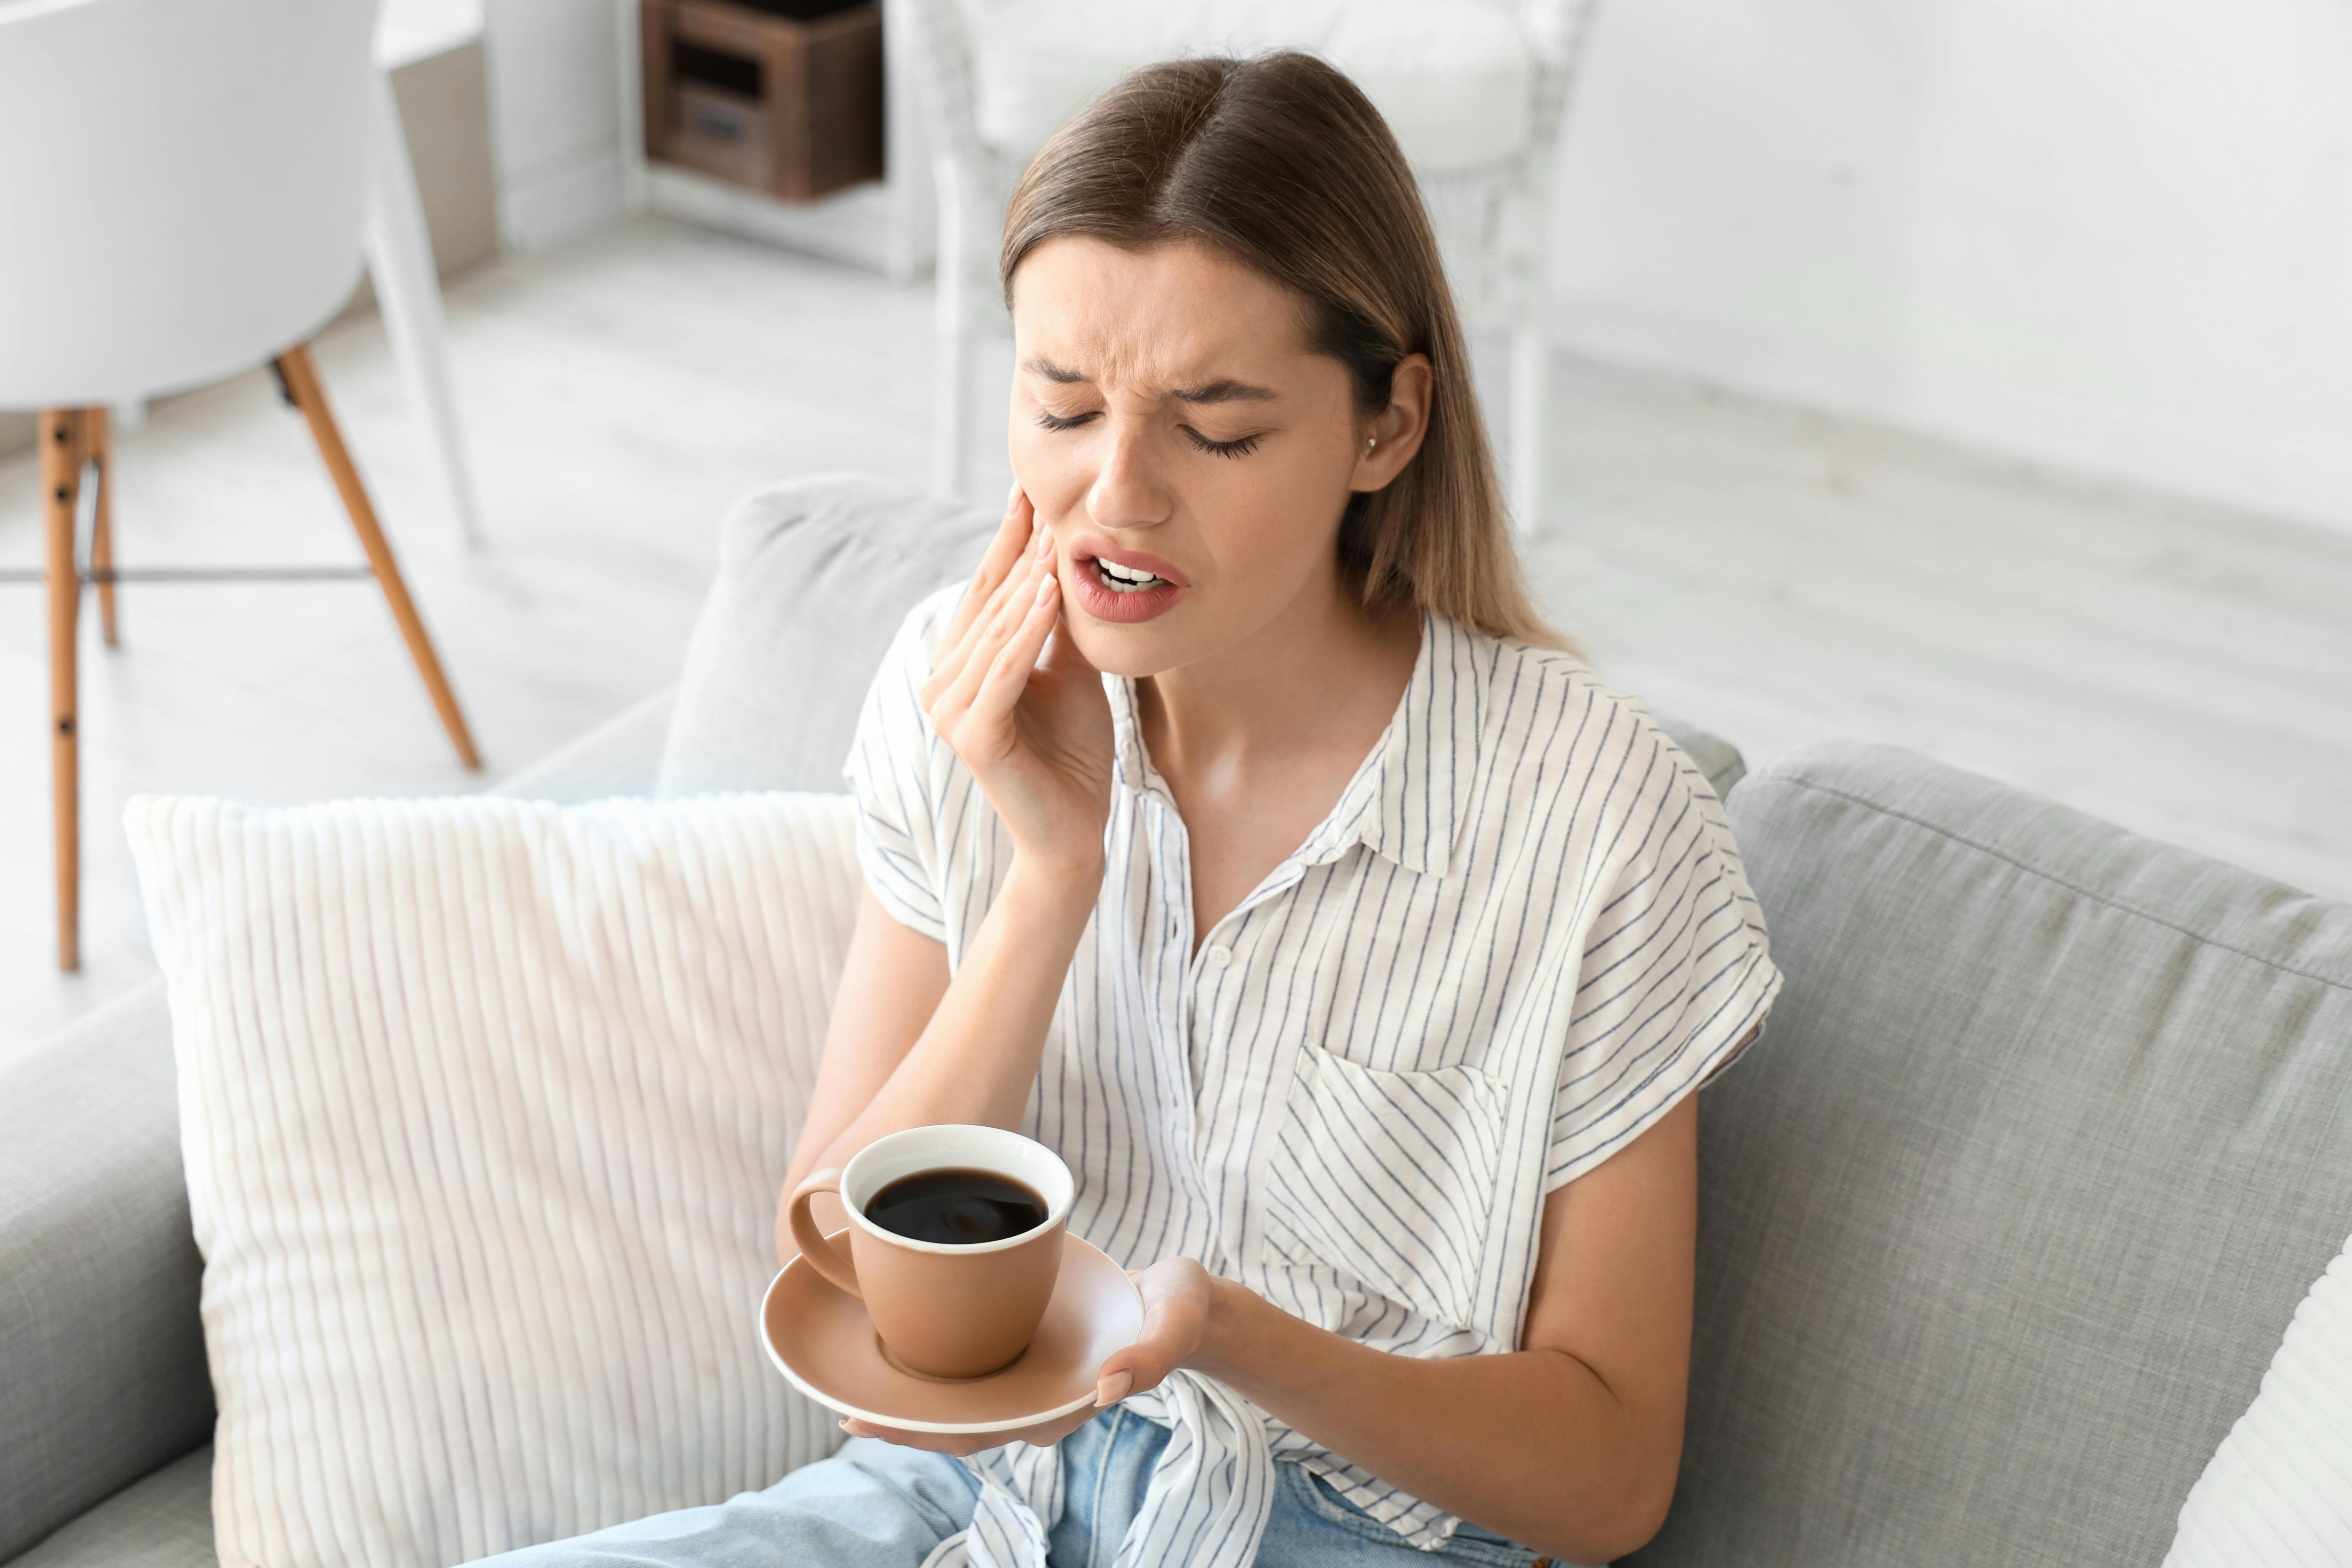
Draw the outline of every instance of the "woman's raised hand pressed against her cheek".
[[[1110,701],[1061,628],[1054,536],[1014,484],[1004,527],[931,654],[922,708],[1033,865],[1098,875]]]

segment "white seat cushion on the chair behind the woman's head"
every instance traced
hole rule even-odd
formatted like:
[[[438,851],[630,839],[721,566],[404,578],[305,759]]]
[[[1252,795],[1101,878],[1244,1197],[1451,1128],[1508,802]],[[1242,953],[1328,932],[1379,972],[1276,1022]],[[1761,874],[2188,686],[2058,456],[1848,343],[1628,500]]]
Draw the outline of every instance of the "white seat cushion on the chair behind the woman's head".
[[[1536,61],[1503,0],[957,0],[981,141],[1014,162],[1115,80],[1183,54],[1308,49],[1355,78],[1423,174],[1526,146]]]

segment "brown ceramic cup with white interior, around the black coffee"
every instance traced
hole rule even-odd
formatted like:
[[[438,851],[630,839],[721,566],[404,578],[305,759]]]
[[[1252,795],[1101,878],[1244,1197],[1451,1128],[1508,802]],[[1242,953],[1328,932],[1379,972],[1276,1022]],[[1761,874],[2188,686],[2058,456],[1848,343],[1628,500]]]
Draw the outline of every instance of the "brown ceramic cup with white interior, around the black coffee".
[[[866,1218],[877,1192],[929,1171],[988,1171],[1044,1199],[1035,1229],[950,1246],[882,1229]],[[849,1211],[842,1251],[816,1229],[809,1199],[837,1192]],[[1054,1150],[995,1126],[913,1126],[875,1138],[847,1166],[793,1190],[793,1241],[809,1267],[866,1302],[882,1354],[924,1378],[985,1378],[1021,1356],[1061,1274],[1061,1237],[1075,1182]]]

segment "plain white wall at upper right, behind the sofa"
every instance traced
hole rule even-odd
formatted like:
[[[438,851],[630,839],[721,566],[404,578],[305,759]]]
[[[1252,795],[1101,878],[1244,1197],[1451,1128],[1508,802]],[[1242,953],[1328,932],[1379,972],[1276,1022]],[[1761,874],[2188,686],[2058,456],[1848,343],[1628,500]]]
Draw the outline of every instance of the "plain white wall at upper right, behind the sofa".
[[[2352,529],[2343,0],[1602,0],[1588,353]]]

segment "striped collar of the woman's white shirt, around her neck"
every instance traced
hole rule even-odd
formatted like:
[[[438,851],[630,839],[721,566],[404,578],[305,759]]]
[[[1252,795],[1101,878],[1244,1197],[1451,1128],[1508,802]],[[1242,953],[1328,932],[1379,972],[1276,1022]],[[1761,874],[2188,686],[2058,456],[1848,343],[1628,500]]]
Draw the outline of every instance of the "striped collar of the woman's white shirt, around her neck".
[[[1124,788],[1157,795],[1171,811],[1176,797],[1152,766],[1136,724],[1136,686],[1105,677],[1115,766]],[[1479,738],[1486,717],[1486,670],[1472,635],[1435,611],[1421,614],[1421,654],[1395,717],[1357,766],[1296,860],[1322,865],[1352,844],[1388,856],[1409,872],[1444,875],[1454,839],[1470,811]]]

